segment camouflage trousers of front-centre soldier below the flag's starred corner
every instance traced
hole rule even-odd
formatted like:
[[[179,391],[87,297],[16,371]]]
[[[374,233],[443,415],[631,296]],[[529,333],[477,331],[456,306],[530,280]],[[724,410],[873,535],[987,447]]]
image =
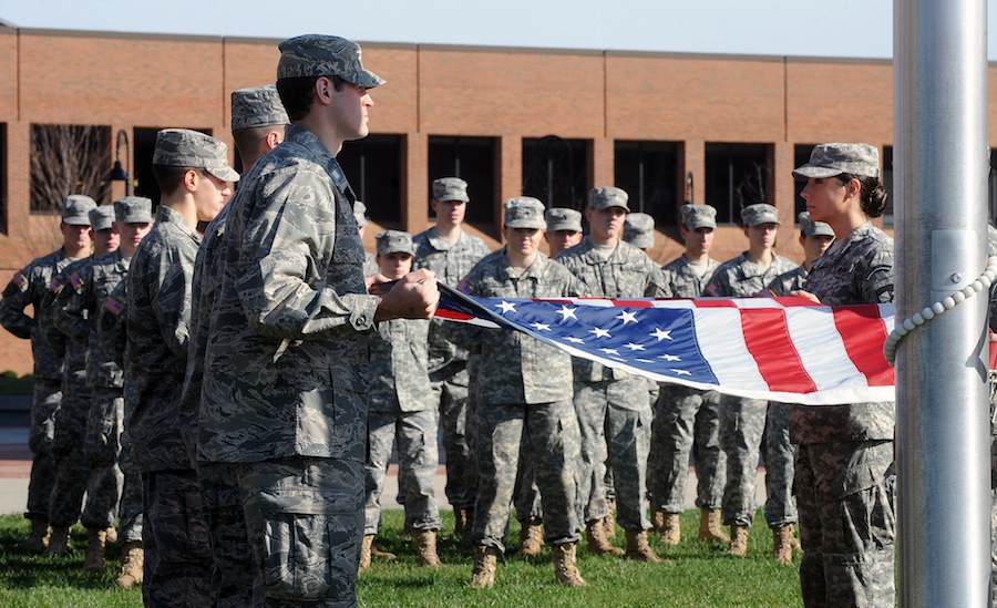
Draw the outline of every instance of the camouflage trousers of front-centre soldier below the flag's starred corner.
[[[544,542],[577,543],[580,503],[577,472],[582,435],[572,403],[482,404],[479,412],[477,502],[471,538],[504,552],[520,449],[533,463],[545,506]]]

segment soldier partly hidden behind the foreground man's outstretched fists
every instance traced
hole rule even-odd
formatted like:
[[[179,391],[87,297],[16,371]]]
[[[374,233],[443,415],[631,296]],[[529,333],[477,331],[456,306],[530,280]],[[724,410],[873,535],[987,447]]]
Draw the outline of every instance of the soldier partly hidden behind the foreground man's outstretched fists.
[[[354,207],[356,208],[356,207]],[[387,230],[377,237],[378,268],[389,279],[412,269],[412,235]],[[378,326],[370,341],[368,396],[367,498],[360,569],[370,566],[371,549],[381,524],[381,492],[398,442],[398,483],[404,496],[405,530],[415,538],[417,564],[439,566],[436,532],[440,507],[433,491],[436,473],[436,408],[430,390],[430,321],[395,319]]]

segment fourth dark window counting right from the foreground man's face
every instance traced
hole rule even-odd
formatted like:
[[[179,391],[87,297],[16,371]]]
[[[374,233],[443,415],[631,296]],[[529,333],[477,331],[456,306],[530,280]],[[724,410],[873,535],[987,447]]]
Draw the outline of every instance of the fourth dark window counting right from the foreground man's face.
[[[677,226],[678,144],[616,142],[616,185],[630,195],[630,210],[646,213],[656,226]]]

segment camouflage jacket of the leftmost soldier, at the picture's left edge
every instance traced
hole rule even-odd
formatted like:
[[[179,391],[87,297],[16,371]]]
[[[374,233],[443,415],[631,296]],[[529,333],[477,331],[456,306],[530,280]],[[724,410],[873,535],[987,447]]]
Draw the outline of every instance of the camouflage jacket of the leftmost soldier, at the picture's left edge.
[[[38,328],[49,320],[42,301],[49,293],[52,279],[73,261],[62,249],[32,260],[14,272],[0,299],[0,324],[18,338],[31,340],[35,378],[62,381],[65,344],[49,347]],[[34,307],[34,318],[24,315],[28,305]]]

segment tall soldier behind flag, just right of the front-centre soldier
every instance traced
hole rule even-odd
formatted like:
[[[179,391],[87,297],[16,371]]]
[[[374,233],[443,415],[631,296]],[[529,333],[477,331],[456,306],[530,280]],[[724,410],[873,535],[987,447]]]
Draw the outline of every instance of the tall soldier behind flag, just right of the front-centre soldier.
[[[585,216],[590,234],[555,258],[598,298],[660,297],[665,293],[661,269],[647,254],[623,243],[627,193],[620,188],[593,188]],[[647,543],[645,485],[650,444],[651,409],[644,378],[575,358],[574,405],[582,426],[582,492],[588,548],[621,554],[606,538],[604,518],[609,515],[604,487],[607,465],[613,470],[617,522],[626,530],[627,556],[659,560]]]

